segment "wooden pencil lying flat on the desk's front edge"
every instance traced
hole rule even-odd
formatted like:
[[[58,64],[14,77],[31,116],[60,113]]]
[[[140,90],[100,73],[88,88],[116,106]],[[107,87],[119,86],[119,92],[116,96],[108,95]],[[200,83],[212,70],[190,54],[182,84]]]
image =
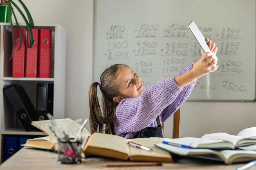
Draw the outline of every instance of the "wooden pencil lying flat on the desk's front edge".
[[[120,162],[120,163],[106,163],[104,167],[119,167],[119,166],[162,166],[159,162]]]

